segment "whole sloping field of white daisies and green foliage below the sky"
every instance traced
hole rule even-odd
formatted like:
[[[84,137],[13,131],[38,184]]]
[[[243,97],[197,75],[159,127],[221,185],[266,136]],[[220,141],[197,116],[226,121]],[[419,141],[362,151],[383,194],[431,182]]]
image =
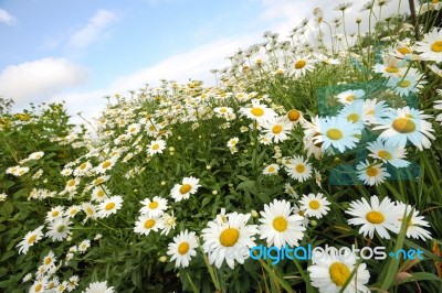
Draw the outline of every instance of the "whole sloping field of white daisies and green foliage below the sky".
[[[440,292],[441,6],[386,2],[317,8],[215,86],[116,94],[87,128],[4,113],[0,291]]]

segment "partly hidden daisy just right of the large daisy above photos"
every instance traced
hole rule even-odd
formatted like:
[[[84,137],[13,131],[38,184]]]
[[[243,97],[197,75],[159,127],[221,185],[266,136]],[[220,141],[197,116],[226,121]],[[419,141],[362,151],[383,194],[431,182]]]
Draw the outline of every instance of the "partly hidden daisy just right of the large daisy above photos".
[[[397,205],[399,206],[400,214],[402,214],[402,216],[398,219],[400,221],[399,226],[402,225],[403,217],[407,218],[410,215],[411,210],[413,210],[413,214],[411,215],[411,218],[407,224],[408,238],[410,237],[413,239],[421,238],[423,241],[425,241],[425,239],[432,238],[431,234],[423,228],[423,227],[430,227],[430,224],[425,220],[423,216],[419,216],[419,210],[413,209],[410,205],[407,205],[404,203],[397,202]]]

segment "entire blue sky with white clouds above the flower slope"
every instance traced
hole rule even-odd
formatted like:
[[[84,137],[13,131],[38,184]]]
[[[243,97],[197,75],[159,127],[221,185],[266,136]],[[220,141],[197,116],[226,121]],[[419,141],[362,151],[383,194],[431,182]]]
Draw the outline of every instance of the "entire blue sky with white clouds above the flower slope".
[[[365,0],[354,1],[354,15]],[[71,113],[103,109],[160,78],[213,82],[210,69],[264,31],[286,35],[329,0],[0,0],[0,95],[66,100]],[[390,3],[391,6],[391,3]]]

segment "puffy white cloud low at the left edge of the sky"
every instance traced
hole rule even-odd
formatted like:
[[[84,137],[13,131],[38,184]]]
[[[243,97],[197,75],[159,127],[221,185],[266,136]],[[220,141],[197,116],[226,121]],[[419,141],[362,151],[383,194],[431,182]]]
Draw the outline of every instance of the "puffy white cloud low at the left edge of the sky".
[[[87,70],[64,58],[42,58],[6,67],[0,73],[0,95],[15,107],[61,93],[87,80]]]

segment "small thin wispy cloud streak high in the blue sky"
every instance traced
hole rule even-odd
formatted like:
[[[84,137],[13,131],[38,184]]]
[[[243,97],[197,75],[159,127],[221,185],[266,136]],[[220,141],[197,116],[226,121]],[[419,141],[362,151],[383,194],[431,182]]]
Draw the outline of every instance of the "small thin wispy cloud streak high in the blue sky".
[[[70,45],[78,48],[87,47],[91,43],[107,33],[109,25],[116,21],[115,13],[98,10],[87,24],[77,30],[70,40]]]

